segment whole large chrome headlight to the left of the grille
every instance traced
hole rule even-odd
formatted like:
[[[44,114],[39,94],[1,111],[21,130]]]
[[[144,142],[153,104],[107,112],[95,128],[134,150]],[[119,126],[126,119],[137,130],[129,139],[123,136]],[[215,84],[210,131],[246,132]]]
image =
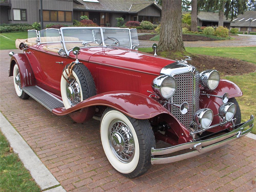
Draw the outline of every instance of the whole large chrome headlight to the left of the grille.
[[[173,96],[176,91],[176,80],[169,75],[161,75],[152,81],[152,89],[160,97],[168,99]]]

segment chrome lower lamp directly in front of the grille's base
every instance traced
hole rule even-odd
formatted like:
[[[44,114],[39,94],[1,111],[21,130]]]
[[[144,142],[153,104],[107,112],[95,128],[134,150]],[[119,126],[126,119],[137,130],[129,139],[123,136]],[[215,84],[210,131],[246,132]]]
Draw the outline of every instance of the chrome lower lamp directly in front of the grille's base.
[[[211,109],[199,109],[196,113],[195,113],[195,122],[196,124],[202,128],[202,129],[207,129],[213,119],[213,112]]]

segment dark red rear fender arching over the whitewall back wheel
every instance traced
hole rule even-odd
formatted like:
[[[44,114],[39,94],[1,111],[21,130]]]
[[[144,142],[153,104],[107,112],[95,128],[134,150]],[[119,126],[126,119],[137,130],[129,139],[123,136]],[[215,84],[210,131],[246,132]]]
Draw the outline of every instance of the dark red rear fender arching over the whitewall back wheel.
[[[35,86],[36,79],[28,58],[23,53],[14,54],[10,61],[9,77],[13,76],[14,65],[17,64],[20,72],[21,87]]]

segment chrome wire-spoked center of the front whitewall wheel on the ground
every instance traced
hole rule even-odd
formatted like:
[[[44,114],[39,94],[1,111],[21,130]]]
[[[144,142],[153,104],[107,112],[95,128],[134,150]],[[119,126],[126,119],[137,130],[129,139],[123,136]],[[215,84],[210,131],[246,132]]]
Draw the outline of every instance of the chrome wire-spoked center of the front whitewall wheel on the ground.
[[[132,161],[135,150],[133,135],[124,122],[114,120],[109,126],[108,138],[113,154],[121,162]]]

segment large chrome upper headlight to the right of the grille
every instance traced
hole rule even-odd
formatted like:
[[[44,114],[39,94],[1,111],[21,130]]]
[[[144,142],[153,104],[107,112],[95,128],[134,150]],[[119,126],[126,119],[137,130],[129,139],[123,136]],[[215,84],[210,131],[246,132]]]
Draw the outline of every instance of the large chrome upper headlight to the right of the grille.
[[[207,89],[214,90],[220,82],[220,74],[217,70],[205,70],[200,73],[200,83]]]

